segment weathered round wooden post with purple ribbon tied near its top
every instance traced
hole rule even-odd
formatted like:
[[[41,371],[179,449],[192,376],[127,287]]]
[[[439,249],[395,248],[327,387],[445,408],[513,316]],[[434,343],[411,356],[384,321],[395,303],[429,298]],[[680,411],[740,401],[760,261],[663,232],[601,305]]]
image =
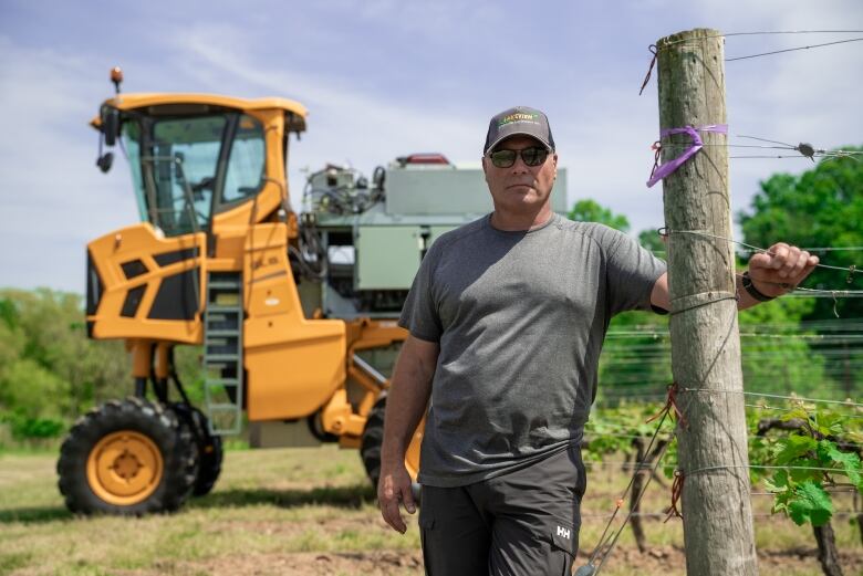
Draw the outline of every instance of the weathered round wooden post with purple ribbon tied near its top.
[[[706,29],[656,42],[661,129],[726,124],[724,42]],[[663,180],[672,369],[686,419],[677,430],[686,568],[694,576],[755,576],[735,253],[725,240],[732,232],[727,135],[697,134],[704,148]],[[674,134],[662,144],[668,163],[693,138]]]

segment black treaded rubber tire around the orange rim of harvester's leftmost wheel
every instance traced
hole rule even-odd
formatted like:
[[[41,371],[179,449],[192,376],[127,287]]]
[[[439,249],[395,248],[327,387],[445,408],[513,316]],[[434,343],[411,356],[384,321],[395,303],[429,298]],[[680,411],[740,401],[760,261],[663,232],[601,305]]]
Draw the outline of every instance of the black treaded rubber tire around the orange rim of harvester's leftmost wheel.
[[[164,463],[155,491],[132,505],[117,505],[98,498],[87,481],[87,459],[105,436],[133,430],[158,448]],[[60,449],[58,485],[66,507],[76,514],[143,515],[178,510],[191,494],[198,471],[198,450],[191,429],[162,405],[143,398],[110,400],[82,416]]]

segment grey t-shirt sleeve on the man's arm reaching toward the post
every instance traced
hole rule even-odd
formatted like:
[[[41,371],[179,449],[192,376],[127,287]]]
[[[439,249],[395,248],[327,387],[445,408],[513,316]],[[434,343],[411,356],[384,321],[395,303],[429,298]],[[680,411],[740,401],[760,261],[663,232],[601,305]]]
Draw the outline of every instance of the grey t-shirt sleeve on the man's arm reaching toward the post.
[[[609,305],[612,315],[628,310],[651,310],[651,293],[665,262],[631,237],[609,230],[613,239],[606,262]]]

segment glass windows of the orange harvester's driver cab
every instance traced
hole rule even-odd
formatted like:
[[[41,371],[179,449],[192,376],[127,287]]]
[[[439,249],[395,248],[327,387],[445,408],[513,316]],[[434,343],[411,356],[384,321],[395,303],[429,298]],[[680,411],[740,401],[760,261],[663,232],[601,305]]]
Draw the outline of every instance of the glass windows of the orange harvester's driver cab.
[[[123,142],[141,218],[168,237],[208,231],[212,214],[264,182],[263,128],[251,116],[128,116]]]

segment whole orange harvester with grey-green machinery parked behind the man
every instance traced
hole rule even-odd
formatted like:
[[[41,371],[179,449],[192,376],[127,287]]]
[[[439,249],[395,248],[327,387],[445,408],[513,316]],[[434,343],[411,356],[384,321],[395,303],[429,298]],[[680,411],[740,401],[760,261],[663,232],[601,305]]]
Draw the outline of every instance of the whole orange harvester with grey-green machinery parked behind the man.
[[[121,149],[141,222],[89,243],[86,324],[92,338],[125,341],[133,395],[70,431],[58,463],[66,505],[175,510],[212,489],[221,437],[247,425],[252,447],[357,448],[376,483],[388,375],[407,337],[395,321],[435,240],[490,210],[481,169],[412,155],[367,179],[330,165],[309,175],[298,216],[287,164],[301,104],[121,94],[122,74],[112,81],[117,94],[91,122],[96,164],[110,169]],[[178,345],[201,346],[201,407],[177,374]]]

